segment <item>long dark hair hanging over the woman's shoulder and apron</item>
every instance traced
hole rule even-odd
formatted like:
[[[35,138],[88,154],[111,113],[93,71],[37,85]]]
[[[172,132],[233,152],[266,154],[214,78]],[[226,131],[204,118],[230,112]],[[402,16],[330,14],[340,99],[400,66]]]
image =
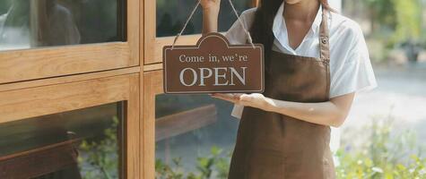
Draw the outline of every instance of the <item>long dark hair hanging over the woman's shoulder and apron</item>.
[[[327,0],[318,0],[326,9],[333,11]],[[283,0],[261,0],[258,4],[255,19],[250,27],[251,38],[254,43],[263,44],[265,47],[265,70],[268,71],[269,57],[274,43],[274,17]]]

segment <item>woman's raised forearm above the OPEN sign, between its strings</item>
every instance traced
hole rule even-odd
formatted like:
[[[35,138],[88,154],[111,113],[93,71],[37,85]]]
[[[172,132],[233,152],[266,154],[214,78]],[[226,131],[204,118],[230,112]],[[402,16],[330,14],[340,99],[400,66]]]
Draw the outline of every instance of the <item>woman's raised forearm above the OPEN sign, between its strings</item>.
[[[217,18],[221,0],[201,0],[203,7],[203,34],[217,31]]]

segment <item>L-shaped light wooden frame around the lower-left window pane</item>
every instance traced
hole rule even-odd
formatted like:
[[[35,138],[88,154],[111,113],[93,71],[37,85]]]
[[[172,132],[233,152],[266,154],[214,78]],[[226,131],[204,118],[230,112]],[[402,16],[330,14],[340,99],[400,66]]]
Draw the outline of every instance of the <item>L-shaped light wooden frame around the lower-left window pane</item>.
[[[0,92],[0,98],[2,98],[0,124],[126,101],[126,168],[124,171],[126,178],[141,178],[139,73],[109,77],[103,75],[110,74],[77,75],[71,77],[72,79],[58,79],[54,81],[54,83],[57,82],[56,84],[39,87],[30,87],[31,83],[29,83],[27,84],[29,88],[22,90],[3,89]],[[38,83],[52,83],[52,81],[40,80]]]

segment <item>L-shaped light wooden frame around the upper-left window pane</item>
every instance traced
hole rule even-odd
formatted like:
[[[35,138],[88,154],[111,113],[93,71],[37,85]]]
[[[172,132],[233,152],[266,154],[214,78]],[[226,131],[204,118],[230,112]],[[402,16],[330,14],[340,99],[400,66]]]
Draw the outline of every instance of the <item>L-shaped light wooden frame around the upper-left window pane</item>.
[[[0,52],[0,84],[139,65],[139,4],[126,1],[126,42]]]

